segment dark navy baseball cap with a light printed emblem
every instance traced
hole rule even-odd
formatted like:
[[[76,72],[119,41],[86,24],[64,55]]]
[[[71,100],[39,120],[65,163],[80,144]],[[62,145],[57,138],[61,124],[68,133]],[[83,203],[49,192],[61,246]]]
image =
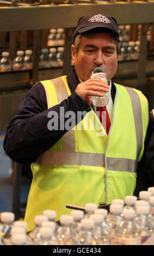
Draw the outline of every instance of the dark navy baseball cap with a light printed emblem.
[[[91,31],[94,29],[102,28],[103,32],[110,32],[115,35],[115,38],[119,39],[118,26],[115,18],[104,15],[104,14],[89,14],[82,16],[78,20],[78,25],[73,33],[73,44],[78,34]]]

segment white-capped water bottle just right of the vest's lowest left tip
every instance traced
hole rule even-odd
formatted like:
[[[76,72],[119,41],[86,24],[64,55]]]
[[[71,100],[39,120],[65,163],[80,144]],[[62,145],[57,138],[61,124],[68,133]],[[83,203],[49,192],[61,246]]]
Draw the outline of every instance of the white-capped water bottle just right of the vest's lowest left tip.
[[[37,243],[40,239],[40,227],[43,222],[48,221],[48,218],[45,215],[36,215],[34,218],[35,228],[29,232],[29,236],[33,242]]]

